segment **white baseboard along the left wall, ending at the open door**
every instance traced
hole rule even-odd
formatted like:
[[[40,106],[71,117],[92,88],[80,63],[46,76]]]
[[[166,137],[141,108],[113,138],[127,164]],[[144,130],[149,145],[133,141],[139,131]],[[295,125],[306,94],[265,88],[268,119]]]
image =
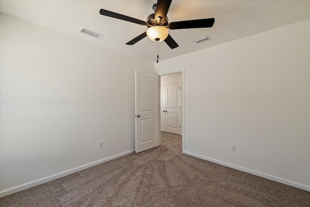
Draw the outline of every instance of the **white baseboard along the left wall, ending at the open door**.
[[[108,158],[104,158],[104,159],[100,159],[100,160],[97,160],[97,161],[94,161],[94,162],[90,162],[90,163],[87,163],[85,165],[81,165],[81,166],[78,166],[78,167],[75,167],[75,168],[72,168],[72,169],[69,169],[69,170],[66,170],[66,171],[62,171],[60,173],[56,173],[54,175],[49,175],[47,177],[43,177],[43,178],[40,178],[40,179],[37,179],[37,180],[33,180],[31,182],[28,182],[28,183],[24,183],[24,184],[21,184],[21,185],[18,185],[18,186],[15,186],[15,187],[12,187],[12,188],[0,191],[0,197],[6,196],[6,195],[9,195],[9,194],[18,192],[18,191],[23,191],[23,190],[31,188],[33,186],[37,186],[37,185],[40,185],[42,183],[46,183],[46,182],[54,180],[54,179],[57,179],[57,178],[60,178],[60,177],[66,176],[66,175],[70,175],[70,174],[73,174],[73,173],[76,173],[78,171],[84,170],[86,168],[93,167],[95,165],[107,162],[107,161],[112,160],[112,159],[116,159],[116,158],[123,157],[125,155],[129,155],[129,154],[133,153],[134,151],[135,150],[132,149],[132,150],[129,150],[127,152],[123,152],[123,153],[120,153],[120,154],[117,154],[117,155],[110,156]]]

